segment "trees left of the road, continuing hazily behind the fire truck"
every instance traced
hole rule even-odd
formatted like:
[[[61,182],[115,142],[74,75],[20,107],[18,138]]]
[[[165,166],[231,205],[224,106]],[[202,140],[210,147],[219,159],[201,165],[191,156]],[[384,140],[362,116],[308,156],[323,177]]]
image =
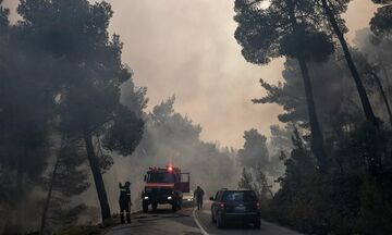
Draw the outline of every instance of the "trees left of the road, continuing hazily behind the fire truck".
[[[108,2],[22,0],[16,12],[11,23],[0,0],[1,234],[94,234],[118,220],[113,185],[133,182],[137,211],[145,171],[169,161],[192,165],[193,187],[235,185],[234,150],[200,140],[174,96],[145,110]]]

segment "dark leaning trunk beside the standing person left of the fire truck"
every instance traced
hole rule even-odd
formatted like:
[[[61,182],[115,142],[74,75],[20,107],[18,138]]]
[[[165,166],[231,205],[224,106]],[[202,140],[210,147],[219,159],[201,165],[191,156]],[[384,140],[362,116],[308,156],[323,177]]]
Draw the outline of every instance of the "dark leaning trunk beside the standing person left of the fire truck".
[[[95,156],[93,137],[91,134],[86,132],[84,134],[84,139],[86,144],[88,162],[93,172],[94,183],[98,194],[98,200],[101,209],[102,221],[110,219],[110,207],[108,202],[108,196],[105,189],[103,178],[100,171],[99,162]]]

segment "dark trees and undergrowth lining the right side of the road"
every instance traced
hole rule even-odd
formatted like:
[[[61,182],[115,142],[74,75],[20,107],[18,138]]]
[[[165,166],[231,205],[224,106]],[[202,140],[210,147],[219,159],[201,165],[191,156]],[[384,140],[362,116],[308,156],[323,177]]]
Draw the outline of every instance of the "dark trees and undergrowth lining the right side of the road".
[[[283,82],[260,79],[267,95],[254,102],[283,108],[278,118],[290,127],[292,146],[279,156],[282,175],[269,172],[274,158],[259,149],[253,162],[264,168],[243,164],[238,186],[258,191],[265,219],[306,234],[391,234],[391,1],[373,1],[380,8],[354,47],[340,17],[347,0],[261,2],[235,1],[235,38],[249,62],[286,58]]]

